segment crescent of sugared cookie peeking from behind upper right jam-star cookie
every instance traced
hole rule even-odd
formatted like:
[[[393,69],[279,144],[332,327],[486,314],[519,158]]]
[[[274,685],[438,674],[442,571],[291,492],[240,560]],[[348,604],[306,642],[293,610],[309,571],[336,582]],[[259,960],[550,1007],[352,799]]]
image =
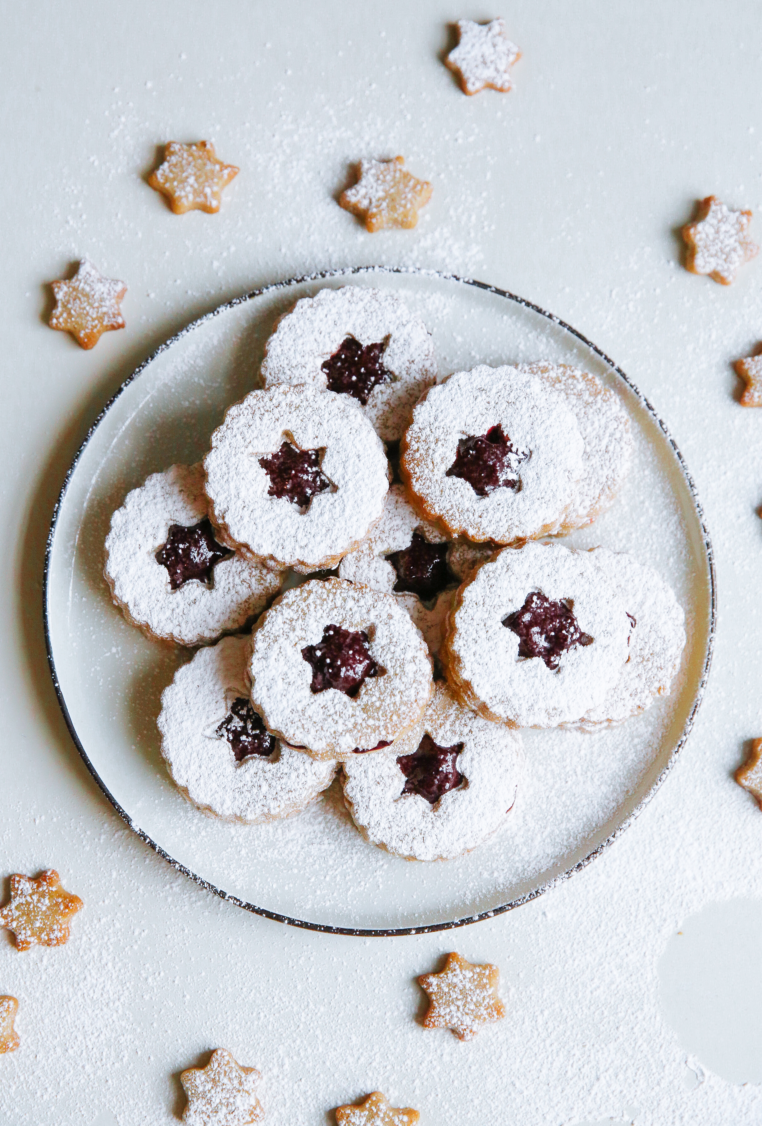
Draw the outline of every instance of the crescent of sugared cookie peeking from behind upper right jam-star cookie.
[[[563,534],[592,524],[612,504],[633,458],[629,418],[621,400],[597,376],[568,364],[521,364],[518,370],[537,376],[564,396],[584,441],[582,476],[552,531]]]

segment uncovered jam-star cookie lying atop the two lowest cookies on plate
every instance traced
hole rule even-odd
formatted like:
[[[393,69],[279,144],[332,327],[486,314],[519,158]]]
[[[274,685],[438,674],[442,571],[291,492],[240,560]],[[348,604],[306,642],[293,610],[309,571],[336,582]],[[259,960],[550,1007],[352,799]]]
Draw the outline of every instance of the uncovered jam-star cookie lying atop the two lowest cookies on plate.
[[[252,637],[251,700],[317,759],[388,747],[431,696],[425,643],[396,599],[341,579],[288,590]]]

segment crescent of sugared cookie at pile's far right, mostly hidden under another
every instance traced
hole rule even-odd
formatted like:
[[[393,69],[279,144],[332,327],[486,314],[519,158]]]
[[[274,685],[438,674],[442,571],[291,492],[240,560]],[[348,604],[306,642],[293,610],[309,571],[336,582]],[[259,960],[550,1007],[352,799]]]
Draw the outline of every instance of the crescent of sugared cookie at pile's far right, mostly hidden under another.
[[[685,615],[653,568],[629,555],[595,547],[591,555],[613,584],[630,620],[629,655],[603,700],[585,712],[580,726],[621,723],[669,694],[685,647]]]

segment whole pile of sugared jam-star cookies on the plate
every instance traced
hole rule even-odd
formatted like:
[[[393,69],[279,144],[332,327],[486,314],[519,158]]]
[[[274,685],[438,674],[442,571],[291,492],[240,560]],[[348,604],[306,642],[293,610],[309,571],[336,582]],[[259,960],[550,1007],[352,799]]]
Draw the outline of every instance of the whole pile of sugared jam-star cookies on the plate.
[[[128,620],[200,646],[162,695],[170,774],[257,823],[340,769],[369,841],[460,856],[508,822],[518,729],[619,723],[678,672],[683,611],[651,568],[544,539],[612,503],[627,415],[564,365],[440,379],[422,321],[360,286],[297,302],[261,375],[106,539]]]

